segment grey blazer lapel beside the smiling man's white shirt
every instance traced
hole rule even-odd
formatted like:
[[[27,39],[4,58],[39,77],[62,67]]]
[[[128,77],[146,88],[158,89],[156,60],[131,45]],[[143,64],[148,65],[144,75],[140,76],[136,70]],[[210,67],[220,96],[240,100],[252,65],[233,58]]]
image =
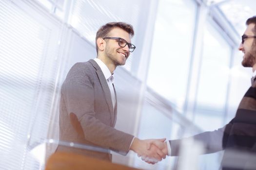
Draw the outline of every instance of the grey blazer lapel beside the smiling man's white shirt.
[[[99,79],[100,85],[102,86],[102,89],[103,89],[103,91],[105,93],[105,99],[106,99],[106,102],[108,103],[108,107],[109,107],[109,110],[110,110],[110,113],[111,113],[111,117],[112,117],[112,120],[113,120],[113,117],[115,117],[114,116],[114,108],[113,108],[113,104],[112,104],[112,100],[111,100],[111,94],[110,94],[110,90],[109,90],[106,78],[105,78],[103,72],[101,71],[100,67],[96,63],[96,61],[91,59],[91,60],[89,60],[89,62],[92,63],[94,68],[97,69],[96,73],[98,75],[98,79]]]

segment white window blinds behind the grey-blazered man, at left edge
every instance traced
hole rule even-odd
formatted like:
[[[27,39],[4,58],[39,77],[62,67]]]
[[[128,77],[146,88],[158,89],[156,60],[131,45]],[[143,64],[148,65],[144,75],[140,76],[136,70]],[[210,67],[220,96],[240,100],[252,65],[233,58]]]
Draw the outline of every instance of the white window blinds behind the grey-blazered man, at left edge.
[[[47,137],[55,95],[61,28],[28,5],[0,0],[1,170],[39,169],[30,150]]]

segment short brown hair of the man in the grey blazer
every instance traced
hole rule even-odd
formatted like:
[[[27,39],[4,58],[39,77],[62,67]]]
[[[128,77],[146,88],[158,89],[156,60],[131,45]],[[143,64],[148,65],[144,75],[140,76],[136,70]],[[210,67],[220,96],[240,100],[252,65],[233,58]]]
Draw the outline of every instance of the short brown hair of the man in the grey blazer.
[[[98,31],[97,31],[97,34],[96,34],[96,38],[95,38],[95,41],[96,41],[96,51],[97,51],[97,54],[98,54],[98,45],[97,45],[97,39],[99,37],[101,38],[104,38],[107,36],[107,34],[114,28],[121,28],[123,29],[124,31],[126,31],[127,33],[129,33],[131,36],[134,35],[134,30],[133,30],[133,26],[130,25],[130,24],[127,24],[125,22],[109,22],[109,23],[106,23],[105,25],[102,25]]]

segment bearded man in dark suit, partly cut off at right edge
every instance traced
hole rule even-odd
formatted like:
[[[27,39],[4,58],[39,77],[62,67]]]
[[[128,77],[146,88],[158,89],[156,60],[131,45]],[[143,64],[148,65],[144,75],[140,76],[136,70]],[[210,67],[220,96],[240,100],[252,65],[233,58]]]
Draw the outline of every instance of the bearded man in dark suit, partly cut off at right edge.
[[[235,118],[223,128],[212,132],[170,140],[164,144],[152,141],[152,144],[163,148],[164,153],[176,156],[179,154],[181,141],[193,139],[204,145],[205,153],[225,150],[222,170],[256,170],[256,16],[247,19],[246,25],[247,29],[242,35],[242,42],[238,50],[244,53],[242,66],[253,68],[253,78],[252,86],[241,100]],[[237,159],[234,157],[236,156],[234,153],[246,154]],[[254,159],[252,159],[253,155]],[[237,166],[230,168],[230,165],[235,165],[234,163]]]

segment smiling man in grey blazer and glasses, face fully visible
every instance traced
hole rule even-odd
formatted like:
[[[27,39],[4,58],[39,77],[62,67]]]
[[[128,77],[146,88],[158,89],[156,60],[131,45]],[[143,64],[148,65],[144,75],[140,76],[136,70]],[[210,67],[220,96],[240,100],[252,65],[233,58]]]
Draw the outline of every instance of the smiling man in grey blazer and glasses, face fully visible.
[[[75,152],[111,161],[109,150],[126,155],[133,150],[139,155],[152,158],[156,163],[165,157],[156,146],[150,150],[147,144],[154,140],[140,140],[135,136],[116,130],[117,97],[113,73],[117,66],[125,64],[134,35],[132,25],[111,22],[103,25],[96,34],[97,58],[76,63],[67,74],[61,88],[60,141],[86,144],[105,148],[106,152],[81,150],[59,144],[57,152]],[[155,139],[161,142],[164,139]]]

